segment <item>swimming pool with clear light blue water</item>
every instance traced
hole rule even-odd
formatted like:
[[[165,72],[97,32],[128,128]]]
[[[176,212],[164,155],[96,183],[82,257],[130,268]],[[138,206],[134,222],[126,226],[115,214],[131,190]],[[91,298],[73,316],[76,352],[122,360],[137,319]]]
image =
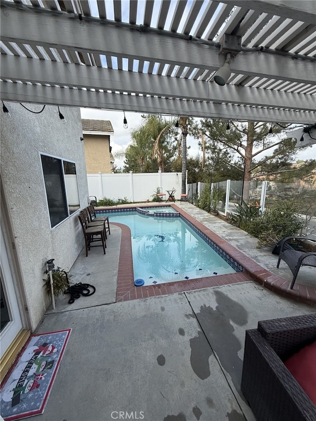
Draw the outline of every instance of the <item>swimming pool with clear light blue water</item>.
[[[176,211],[169,217],[156,216],[157,210],[159,214],[165,213],[166,208],[170,210],[171,207],[106,212],[110,222],[127,225],[131,231],[134,279],[144,279],[145,285],[155,285],[243,270],[215,243],[190,227]]]

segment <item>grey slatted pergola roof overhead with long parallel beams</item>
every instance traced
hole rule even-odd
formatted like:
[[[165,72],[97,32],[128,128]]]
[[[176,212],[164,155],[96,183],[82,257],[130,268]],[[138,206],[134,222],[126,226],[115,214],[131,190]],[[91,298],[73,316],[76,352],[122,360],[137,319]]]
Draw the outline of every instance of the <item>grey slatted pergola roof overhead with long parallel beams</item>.
[[[316,122],[315,0],[0,4],[3,101]]]

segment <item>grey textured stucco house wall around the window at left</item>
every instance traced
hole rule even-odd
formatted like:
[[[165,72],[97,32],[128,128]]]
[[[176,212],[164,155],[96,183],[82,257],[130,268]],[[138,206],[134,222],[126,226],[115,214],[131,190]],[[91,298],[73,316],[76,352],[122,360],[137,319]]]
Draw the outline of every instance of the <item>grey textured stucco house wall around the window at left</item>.
[[[80,208],[87,206],[88,187],[79,108],[46,106],[32,114],[18,103],[6,102],[10,116],[1,113],[1,181],[14,245],[21,268],[31,329],[50,304],[43,287],[45,262],[69,270],[84,245],[79,211],[50,228],[40,153],[76,162]],[[38,104],[24,104],[40,111]]]

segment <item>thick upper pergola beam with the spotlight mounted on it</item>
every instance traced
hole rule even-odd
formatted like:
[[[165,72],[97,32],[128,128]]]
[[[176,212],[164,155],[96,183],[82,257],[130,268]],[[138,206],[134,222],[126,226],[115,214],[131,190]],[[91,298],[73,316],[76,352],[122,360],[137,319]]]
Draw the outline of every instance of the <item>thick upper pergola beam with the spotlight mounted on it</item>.
[[[215,47],[175,36],[84,21],[72,14],[53,15],[7,7],[1,16],[1,39],[46,48],[104,54],[152,63],[217,70],[225,61]],[[81,23],[80,23],[81,22]],[[316,83],[315,62],[265,52],[239,53],[230,64],[236,74]]]

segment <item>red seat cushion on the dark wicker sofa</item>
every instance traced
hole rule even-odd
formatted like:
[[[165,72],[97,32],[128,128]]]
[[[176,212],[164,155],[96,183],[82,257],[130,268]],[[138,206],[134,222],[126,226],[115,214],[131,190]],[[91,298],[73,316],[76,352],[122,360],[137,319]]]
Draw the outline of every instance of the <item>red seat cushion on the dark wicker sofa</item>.
[[[292,355],[284,364],[316,405],[316,341]]]

